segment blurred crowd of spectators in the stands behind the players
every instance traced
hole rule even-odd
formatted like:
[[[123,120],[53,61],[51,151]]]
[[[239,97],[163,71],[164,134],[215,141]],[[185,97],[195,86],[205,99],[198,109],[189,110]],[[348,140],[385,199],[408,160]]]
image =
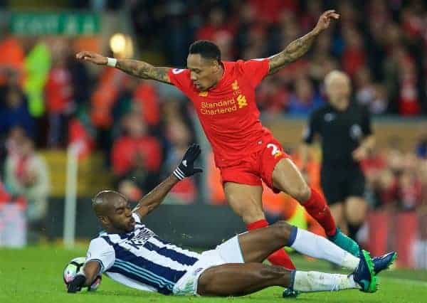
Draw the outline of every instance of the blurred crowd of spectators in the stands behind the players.
[[[134,0],[127,6],[135,46],[149,54],[135,58],[157,58],[156,63],[176,67],[185,66],[188,46],[196,39],[217,43],[223,60],[273,55],[310,31],[322,11],[334,8],[341,14],[337,25],[322,33],[302,59],[258,87],[262,115],[305,117],[327,102],[322,80],[338,68],[352,78],[354,102],[367,105],[373,115],[425,118],[424,2]],[[122,6],[125,1],[70,1],[72,9]],[[102,151],[115,186],[137,200],[196,141],[191,104],[174,87],[78,62],[72,44],[73,38],[18,37],[7,29],[0,38],[0,53],[7,54],[0,56],[0,196],[21,205],[27,201],[34,224],[46,216],[51,187],[46,163],[35,150],[79,142],[83,153]],[[285,148],[297,161],[297,148]],[[318,186],[318,159],[313,157],[310,167],[307,179]],[[224,204],[213,161],[205,169],[211,193],[206,203]],[[372,207],[427,213],[427,133],[412,151],[402,151],[398,140],[376,149],[364,161],[364,171]],[[194,203],[200,182],[179,183],[174,203]],[[292,215],[283,208],[287,199],[264,199],[272,220]]]

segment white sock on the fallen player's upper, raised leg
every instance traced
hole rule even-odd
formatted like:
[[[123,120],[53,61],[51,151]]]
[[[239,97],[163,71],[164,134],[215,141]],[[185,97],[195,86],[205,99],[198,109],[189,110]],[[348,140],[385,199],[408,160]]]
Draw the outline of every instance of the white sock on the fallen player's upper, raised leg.
[[[327,260],[350,270],[355,270],[359,265],[358,257],[339,248],[330,240],[300,228],[297,229],[297,235],[290,247],[304,255]]]

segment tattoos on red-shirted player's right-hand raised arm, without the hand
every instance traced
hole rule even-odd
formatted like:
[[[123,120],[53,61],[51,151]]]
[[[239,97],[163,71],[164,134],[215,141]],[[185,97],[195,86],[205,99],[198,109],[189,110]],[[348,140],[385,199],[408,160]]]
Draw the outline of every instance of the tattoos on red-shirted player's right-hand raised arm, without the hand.
[[[270,59],[270,70],[269,75],[277,72],[280,68],[283,68],[288,63],[291,63],[298,58],[302,57],[307,50],[309,50],[312,43],[315,41],[317,33],[310,31],[305,36],[297,38],[297,40],[292,41],[284,50],[280,53],[272,55]]]

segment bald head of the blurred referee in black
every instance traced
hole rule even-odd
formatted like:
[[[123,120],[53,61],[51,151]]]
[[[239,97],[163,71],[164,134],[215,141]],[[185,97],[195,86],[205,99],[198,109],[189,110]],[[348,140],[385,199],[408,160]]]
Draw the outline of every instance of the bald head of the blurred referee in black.
[[[325,77],[325,90],[330,103],[338,110],[345,110],[349,104],[351,82],[346,73],[332,70]]]

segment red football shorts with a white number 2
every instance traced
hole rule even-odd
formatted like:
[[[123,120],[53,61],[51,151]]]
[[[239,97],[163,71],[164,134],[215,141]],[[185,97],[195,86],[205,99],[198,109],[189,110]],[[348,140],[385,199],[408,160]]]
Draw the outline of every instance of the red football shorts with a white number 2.
[[[219,168],[223,184],[234,182],[261,186],[262,180],[275,193],[280,192],[273,186],[273,170],[281,159],[288,159],[290,156],[283,151],[282,145],[273,137],[263,141],[262,149],[249,152],[239,164]]]

